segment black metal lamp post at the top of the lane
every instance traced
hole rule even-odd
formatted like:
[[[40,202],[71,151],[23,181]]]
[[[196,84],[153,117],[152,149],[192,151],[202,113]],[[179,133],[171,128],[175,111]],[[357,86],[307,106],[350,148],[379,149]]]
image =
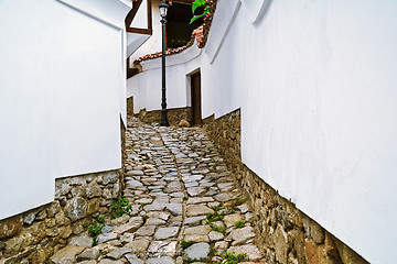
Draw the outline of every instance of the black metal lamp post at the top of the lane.
[[[165,98],[165,23],[167,23],[167,11],[168,11],[169,4],[168,1],[161,1],[159,4],[160,9],[160,16],[161,16],[161,30],[162,30],[162,53],[161,53],[161,63],[162,63],[162,95],[161,95],[161,121],[160,125],[162,127],[169,127],[169,121],[167,118],[167,98]]]

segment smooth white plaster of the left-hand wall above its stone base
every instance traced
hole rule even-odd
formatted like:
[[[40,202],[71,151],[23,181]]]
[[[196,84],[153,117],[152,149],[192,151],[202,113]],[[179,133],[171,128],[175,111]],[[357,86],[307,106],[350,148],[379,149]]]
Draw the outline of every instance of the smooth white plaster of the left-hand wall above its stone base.
[[[52,201],[56,177],[121,166],[125,37],[103,22],[0,1],[0,219]]]

